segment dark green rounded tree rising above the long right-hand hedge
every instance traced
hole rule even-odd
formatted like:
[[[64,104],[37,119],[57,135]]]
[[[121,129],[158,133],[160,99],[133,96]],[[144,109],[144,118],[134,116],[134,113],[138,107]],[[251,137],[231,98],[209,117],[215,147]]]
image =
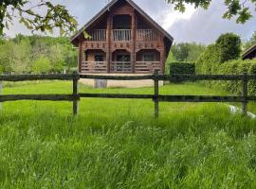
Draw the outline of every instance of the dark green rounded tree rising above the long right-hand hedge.
[[[241,39],[233,33],[222,34],[216,41],[220,51],[220,62],[236,60],[241,54]]]

